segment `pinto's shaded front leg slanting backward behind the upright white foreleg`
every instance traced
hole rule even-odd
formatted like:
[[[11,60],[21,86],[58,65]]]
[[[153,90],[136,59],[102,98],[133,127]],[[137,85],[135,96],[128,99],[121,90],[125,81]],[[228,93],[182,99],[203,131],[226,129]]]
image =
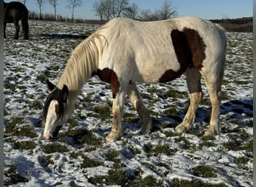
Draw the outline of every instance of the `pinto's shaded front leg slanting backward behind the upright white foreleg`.
[[[141,134],[150,133],[152,127],[152,120],[147,107],[144,105],[141,97],[139,96],[138,89],[135,84],[129,84],[129,99],[132,105],[138,111],[138,116],[141,118]]]

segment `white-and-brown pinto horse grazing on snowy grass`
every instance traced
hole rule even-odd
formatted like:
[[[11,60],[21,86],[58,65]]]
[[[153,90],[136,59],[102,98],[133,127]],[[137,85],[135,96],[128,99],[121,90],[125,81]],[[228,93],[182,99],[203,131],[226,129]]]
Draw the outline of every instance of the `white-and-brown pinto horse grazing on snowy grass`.
[[[212,105],[210,126],[205,136],[221,132],[219,107],[224,73],[226,39],[212,22],[183,17],[156,22],[112,19],[85,39],[73,53],[57,85],[48,80],[49,96],[43,108],[43,136],[54,138],[73,113],[74,105],[91,76],[97,75],[111,85],[114,117],[106,142],[123,135],[124,99],[128,94],[141,119],[141,133],[152,127],[136,82],[163,83],[186,74],[190,105],[175,129],[186,132],[195,122],[195,110],[202,99],[204,77]]]

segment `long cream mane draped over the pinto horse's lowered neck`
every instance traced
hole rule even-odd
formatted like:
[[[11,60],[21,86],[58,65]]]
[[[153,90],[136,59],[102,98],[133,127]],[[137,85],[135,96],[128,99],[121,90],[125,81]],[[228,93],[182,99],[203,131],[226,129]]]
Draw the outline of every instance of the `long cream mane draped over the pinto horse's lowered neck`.
[[[67,61],[57,87],[62,89],[63,85],[67,85],[70,91],[80,91],[97,67],[104,41],[103,35],[94,33],[80,43]]]

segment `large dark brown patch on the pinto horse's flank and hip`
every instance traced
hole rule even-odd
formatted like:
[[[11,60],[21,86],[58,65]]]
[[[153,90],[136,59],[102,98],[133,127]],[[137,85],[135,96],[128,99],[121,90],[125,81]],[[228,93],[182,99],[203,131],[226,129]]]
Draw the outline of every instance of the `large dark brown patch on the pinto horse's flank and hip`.
[[[200,69],[205,58],[205,44],[197,31],[184,28],[183,31],[174,29],[171,31],[171,40],[174,52],[180,64],[180,70],[166,70],[159,79],[159,82],[169,82],[181,76],[187,67],[191,65]]]

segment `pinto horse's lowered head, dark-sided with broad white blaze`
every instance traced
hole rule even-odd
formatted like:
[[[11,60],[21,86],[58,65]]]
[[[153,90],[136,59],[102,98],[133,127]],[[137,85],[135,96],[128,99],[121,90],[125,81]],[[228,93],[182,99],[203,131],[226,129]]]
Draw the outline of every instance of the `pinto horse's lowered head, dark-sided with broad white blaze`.
[[[51,93],[47,97],[43,107],[43,136],[48,140],[55,138],[58,135],[59,129],[65,123],[64,114],[67,104],[68,88],[67,85],[64,85],[62,90],[60,90],[48,80],[46,83]]]

